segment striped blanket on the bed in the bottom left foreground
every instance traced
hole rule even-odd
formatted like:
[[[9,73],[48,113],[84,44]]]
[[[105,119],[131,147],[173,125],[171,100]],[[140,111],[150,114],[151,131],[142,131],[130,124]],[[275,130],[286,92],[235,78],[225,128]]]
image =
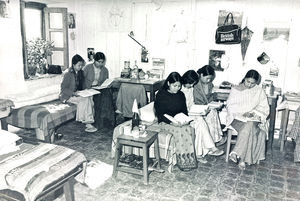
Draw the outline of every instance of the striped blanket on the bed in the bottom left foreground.
[[[0,155],[0,200],[33,201],[84,162],[83,154],[69,148],[23,143],[19,151]]]

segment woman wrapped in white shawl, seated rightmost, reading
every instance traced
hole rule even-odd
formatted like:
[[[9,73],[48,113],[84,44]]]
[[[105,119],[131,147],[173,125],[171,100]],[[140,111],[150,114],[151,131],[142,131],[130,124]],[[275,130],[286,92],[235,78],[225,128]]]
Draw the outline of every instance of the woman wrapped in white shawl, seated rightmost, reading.
[[[256,164],[265,159],[269,105],[265,91],[258,86],[259,81],[260,74],[249,70],[242,82],[231,89],[227,99],[227,127],[238,133],[229,158],[238,162],[241,170],[246,168],[246,163]]]

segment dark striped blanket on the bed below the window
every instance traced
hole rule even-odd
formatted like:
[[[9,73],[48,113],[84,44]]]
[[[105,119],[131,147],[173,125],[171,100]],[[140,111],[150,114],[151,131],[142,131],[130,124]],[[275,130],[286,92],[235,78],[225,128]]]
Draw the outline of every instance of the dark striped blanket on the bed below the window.
[[[62,104],[59,100],[24,106],[12,110],[6,122],[20,128],[39,128],[47,131],[73,119],[76,116],[76,108],[74,104]]]

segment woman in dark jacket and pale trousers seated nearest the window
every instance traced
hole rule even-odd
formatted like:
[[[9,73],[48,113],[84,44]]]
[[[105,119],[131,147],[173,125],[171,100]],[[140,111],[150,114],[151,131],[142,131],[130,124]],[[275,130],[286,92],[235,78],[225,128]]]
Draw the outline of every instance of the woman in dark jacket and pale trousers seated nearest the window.
[[[76,54],[72,58],[72,66],[67,70],[61,83],[59,99],[63,102],[70,102],[77,105],[76,121],[86,124],[86,132],[96,132],[94,123],[94,102],[93,97],[79,97],[76,93],[83,89],[83,58]]]

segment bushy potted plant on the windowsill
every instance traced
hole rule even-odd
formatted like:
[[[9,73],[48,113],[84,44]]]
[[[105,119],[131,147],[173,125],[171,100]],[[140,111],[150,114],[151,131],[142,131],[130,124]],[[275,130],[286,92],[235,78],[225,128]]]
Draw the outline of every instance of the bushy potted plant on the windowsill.
[[[53,41],[42,38],[26,41],[29,76],[47,73],[47,57],[53,54]]]

